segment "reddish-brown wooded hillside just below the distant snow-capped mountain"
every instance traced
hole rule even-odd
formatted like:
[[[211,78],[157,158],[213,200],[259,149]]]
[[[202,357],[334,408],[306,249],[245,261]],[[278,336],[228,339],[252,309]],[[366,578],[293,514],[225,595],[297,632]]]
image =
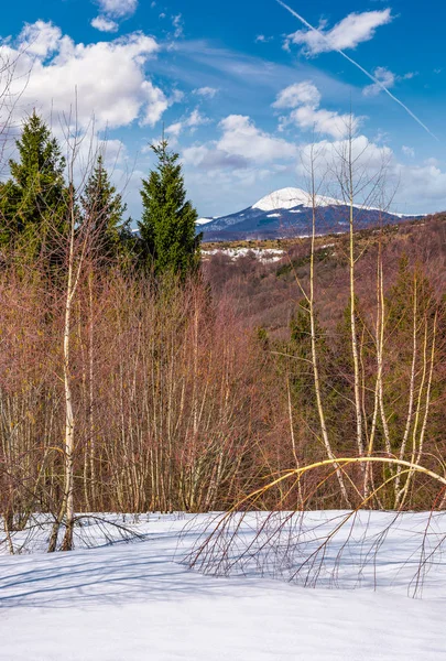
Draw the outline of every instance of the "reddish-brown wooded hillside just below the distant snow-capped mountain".
[[[376,261],[382,241],[385,284],[390,286],[403,256],[420,263],[438,295],[446,291],[446,214],[403,221],[383,229],[359,230],[356,236],[358,295],[371,301],[376,290]],[[246,322],[286,334],[292,311],[302,293],[296,277],[307,285],[307,238],[204,243],[205,272],[215,295],[230,296]],[[282,251],[279,261],[262,260],[262,251]],[[229,253],[228,253],[229,251]],[[230,252],[232,251],[232,256]],[[239,258],[233,259],[233,253]],[[327,235],[316,239],[317,304],[320,319],[335,327],[348,299],[348,238]]]

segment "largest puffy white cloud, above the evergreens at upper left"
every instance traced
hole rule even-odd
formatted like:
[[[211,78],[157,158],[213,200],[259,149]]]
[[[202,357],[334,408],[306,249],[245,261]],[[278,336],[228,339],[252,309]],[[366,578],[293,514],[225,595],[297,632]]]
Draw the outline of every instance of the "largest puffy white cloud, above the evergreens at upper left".
[[[0,57],[17,59],[10,93],[20,95],[18,113],[36,107],[46,117],[66,115],[77,90],[80,128],[95,116],[98,130],[134,120],[153,126],[162,117],[170,100],[144,71],[157,51],[156,41],[141,32],[83,44],[43,21],[26,25],[13,45],[0,42]]]

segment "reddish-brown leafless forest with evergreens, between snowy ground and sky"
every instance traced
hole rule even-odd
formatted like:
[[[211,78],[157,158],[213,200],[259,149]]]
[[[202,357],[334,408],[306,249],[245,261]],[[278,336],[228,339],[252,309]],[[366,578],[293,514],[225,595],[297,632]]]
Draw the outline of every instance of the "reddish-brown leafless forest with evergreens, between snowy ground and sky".
[[[134,232],[75,113],[62,145],[35,112],[15,133],[0,186],[11,551],[36,514],[55,551],[88,512],[445,506],[444,218],[357,231],[358,199],[385,210],[389,195],[352,127],[330,161],[306,154],[309,238],[269,266],[200,263],[164,139]],[[319,237],[334,188],[349,231]]]

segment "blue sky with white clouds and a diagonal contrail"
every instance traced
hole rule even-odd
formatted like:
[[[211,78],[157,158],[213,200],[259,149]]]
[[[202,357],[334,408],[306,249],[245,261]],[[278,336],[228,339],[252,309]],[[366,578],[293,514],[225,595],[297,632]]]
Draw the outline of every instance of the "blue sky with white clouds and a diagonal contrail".
[[[305,186],[308,145],[327,162],[351,113],[361,167],[372,175],[387,164],[391,208],[446,209],[446,6],[286,6],[10,2],[0,24],[0,62],[10,63],[0,71],[0,124],[7,111],[19,126],[35,108],[63,140],[76,116],[87,136],[81,162],[100,144],[137,220],[140,182],[155,162],[150,144],[163,127],[188,197],[211,217]]]

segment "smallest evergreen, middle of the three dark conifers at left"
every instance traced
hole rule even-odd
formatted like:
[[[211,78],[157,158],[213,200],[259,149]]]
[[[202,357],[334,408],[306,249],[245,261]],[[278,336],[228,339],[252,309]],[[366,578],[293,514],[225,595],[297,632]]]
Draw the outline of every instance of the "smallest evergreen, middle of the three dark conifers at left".
[[[106,259],[122,256],[130,238],[130,220],[122,220],[127,205],[111,184],[101,155],[80,196],[80,205],[81,223],[93,232],[98,256]]]

